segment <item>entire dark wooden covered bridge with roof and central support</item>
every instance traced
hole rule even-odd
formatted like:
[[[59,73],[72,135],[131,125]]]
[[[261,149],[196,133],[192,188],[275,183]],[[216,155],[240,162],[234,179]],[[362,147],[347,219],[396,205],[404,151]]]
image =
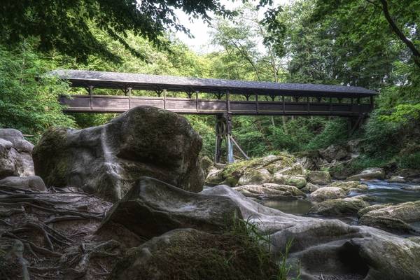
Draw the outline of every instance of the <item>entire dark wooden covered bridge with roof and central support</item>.
[[[216,162],[221,161],[223,139],[228,162],[233,161],[234,145],[241,151],[232,137],[232,116],[341,116],[349,118],[356,127],[372,110],[377,94],[363,87],[342,85],[79,70],[57,70],[52,75],[68,80],[72,87],[87,90],[87,94],[60,97],[64,111],[69,113],[123,113],[135,106],[155,106],[176,113],[216,115]],[[120,90],[122,94],[94,94],[96,89]],[[155,92],[155,96],[137,96],[134,91],[138,90]],[[168,92],[183,92],[186,98],[168,97]]]

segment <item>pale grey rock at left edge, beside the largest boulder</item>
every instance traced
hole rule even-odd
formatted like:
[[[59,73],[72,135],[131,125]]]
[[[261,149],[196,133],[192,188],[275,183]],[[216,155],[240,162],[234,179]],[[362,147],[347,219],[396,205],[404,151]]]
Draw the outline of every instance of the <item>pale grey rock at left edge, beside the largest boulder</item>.
[[[33,147],[23,138],[22,132],[0,129],[0,179],[34,175],[34,162],[31,158]]]

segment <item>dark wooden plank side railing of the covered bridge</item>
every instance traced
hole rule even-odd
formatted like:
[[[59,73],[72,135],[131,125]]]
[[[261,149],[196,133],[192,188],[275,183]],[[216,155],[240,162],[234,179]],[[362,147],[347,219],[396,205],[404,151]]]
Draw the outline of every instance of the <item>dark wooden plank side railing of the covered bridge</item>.
[[[370,104],[286,101],[235,101],[174,97],[72,95],[61,97],[66,112],[123,113],[135,106],[155,106],[176,113],[232,115],[295,115],[353,117],[368,113]],[[229,108],[228,108],[229,107]]]

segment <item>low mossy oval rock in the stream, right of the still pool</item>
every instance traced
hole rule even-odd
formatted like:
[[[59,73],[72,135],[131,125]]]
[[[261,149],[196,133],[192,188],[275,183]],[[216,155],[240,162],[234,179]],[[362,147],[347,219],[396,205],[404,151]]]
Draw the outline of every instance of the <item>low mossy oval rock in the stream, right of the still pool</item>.
[[[369,206],[369,203],[361,200],[359,197],[346,197],[343,199],[326,200],[315,204],[309,209],[308,213],[323,216],[356,216],[360,209]]]

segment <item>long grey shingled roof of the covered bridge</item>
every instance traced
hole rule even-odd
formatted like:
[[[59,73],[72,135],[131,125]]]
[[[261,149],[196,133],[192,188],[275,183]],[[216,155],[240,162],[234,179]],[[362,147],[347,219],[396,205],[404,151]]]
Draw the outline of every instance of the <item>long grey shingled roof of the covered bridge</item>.
[[[173,92],[228,91],[231,94],[288,95],[310,97],[369,97],[377,94],[364,87],[344,85],[315,85],[309,83],[272,83],[214,78],[188,78],[179,76],[149,75],[142,73],[117,73],[84,70],[56,70],[50,74],[69,80],[72,87],[134,90],[168,90]]]

